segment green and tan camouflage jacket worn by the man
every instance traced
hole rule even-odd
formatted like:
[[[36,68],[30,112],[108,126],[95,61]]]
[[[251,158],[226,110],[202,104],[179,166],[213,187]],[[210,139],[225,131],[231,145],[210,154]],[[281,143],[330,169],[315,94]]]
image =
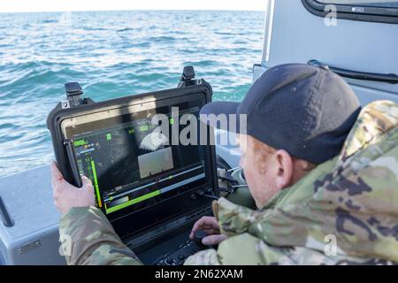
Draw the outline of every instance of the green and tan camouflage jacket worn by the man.
[[[367,105],[341,155],[263,210],[223,198],[213,209],[228,239],[186,264],[398,263],[398,105]],[[141,264],[96,208],[70,210],[60,234],[71,238],[68,264]]]

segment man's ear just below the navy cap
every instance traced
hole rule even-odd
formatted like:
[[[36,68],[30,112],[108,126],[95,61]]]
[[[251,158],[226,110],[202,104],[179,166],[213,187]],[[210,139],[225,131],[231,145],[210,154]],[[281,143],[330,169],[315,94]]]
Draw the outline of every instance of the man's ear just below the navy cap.
[[[276,185],[279,190],[288,187],[293,178],[293,160],[286,150],[279,149],[275,152],[278,172]]]

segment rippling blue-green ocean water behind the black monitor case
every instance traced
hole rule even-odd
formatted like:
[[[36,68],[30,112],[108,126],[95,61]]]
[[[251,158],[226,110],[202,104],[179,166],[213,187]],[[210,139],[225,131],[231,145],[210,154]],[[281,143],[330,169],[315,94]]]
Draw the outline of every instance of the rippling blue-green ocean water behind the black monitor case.
[[[214,100],[240,101],[263,26],[260,11],[0,13],[0,177],[50,164],[45,122],[67,81],[102,101],[173,88],[194,65]]]

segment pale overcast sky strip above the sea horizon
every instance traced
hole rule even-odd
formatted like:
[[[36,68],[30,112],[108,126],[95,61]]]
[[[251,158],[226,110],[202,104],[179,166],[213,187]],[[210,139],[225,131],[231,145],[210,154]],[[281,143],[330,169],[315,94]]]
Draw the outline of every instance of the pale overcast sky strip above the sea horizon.
[[[0,0],[0,12],[108,10],[264,11],[265,0]]]

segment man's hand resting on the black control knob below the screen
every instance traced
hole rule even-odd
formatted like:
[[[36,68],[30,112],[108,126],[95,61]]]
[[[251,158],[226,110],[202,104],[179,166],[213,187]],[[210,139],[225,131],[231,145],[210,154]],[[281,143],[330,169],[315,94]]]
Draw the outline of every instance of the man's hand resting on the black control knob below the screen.
[[[195,222],[192,232],[189,235],[191,240],[194,239],[194,233],[198,230],[203,230],[209,236],[202,240],[203,245],[212,246],[218,245],[221,241],[226,240],[226,235],[221,234],[216,218],[205,216]]]

